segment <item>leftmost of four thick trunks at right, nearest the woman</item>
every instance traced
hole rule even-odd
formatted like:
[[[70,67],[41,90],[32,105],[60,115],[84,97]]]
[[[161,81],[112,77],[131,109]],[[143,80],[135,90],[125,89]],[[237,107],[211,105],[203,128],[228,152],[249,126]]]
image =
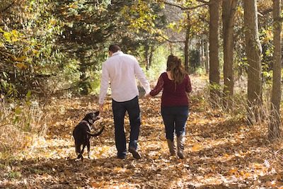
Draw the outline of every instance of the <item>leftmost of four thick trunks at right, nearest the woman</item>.
[[[212,105],[216,105],[219,93],[219,4],[211,0],[209,4],[209,84]]]

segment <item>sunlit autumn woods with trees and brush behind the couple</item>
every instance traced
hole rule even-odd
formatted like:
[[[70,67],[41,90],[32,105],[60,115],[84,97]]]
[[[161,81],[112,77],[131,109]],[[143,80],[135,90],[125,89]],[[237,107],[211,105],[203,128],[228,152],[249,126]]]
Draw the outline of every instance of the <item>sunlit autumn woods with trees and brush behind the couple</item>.
[[[152,85],[178,55],[202,112],[281,141],[282,21],[280,0],[1,0],[0,157],[8,164],[50,130],[55,101],[96,102],[112,43]]]

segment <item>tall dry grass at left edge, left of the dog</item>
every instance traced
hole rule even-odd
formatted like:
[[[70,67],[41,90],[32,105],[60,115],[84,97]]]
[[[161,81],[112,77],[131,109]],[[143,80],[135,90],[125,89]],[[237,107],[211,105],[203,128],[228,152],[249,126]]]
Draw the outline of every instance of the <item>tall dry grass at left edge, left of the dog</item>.
[[[37,102],[7,103],[0,99],[0,159],[10,159],[47,130]]]

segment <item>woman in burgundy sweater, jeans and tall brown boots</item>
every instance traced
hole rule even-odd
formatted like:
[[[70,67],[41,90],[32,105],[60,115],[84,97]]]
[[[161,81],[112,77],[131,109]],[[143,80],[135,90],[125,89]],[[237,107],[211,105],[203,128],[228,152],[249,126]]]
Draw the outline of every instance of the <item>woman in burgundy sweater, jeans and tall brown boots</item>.
[[[175,130],[177,154],[180,159],[184,159],[185,125],[189,113],[187,93],[192,91],[192,86],[181,60],[176,56],[168,56],[166,72],[159,76],[155,88],[146,97],[156,96],[162,89],[161,115],[165,125],[169,151],[171,155],[175,155]]]

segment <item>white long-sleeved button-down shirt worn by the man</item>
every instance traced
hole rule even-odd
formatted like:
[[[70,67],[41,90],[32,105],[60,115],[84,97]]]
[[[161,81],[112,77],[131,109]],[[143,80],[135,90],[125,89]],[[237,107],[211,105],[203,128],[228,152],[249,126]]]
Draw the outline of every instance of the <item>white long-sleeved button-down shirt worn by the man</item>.
[[[132,55],[124,54],[121,51],[115,52],[102,66],[100,82],[99,104],[103,104],[107,95],[110,81],[111,96],[114,101],[125,102],[132,100],[139,95],[137,79],[141,82],[146,93],[150,92],[149,82],[139,67],[139,62]]]

